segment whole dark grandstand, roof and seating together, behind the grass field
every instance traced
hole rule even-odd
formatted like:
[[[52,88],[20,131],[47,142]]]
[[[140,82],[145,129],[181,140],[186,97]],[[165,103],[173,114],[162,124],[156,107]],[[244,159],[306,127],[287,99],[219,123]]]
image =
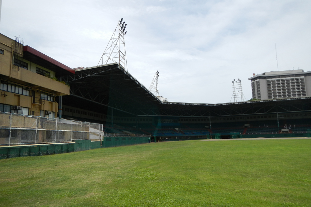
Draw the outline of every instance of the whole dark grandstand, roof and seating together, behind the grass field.
[[[161,102],[117,63],[63,76],[62,118],[101,123],[106,133],[203,138],[207,134],[310,131],[311,97],[219,104]],[[59,100],[58,100],[59,101]]]

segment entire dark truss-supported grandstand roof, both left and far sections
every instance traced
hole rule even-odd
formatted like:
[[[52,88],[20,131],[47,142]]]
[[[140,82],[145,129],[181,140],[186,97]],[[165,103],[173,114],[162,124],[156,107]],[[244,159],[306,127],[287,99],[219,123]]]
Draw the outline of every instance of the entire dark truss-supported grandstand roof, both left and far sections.
[[[100,111],[94,104],[138,116],[201,117],[310,111],[311,97],[219,104],[161,102],[117,63],[78,69],[64,78],[70,84],[70,96],[63,98],[71,105],[82,104],[83,108],[93,111]]]

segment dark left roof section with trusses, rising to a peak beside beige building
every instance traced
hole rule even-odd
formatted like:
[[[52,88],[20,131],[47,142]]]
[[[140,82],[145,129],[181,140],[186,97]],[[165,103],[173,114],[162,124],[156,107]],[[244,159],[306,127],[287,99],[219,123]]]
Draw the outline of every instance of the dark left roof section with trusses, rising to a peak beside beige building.
[[[116,63],[76,70],[64,80],[70,84],[71,97],[131,115],[157,114],[156,96]]]

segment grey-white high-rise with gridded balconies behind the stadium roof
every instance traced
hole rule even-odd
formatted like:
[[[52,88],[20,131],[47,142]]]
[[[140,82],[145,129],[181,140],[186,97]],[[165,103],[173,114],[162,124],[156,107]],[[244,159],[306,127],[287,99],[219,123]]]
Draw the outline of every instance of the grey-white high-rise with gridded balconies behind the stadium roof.
[[[252,95],[256,99],[311,96],[311,71],[271,71],[254,75],[248,80],[251,80]]]

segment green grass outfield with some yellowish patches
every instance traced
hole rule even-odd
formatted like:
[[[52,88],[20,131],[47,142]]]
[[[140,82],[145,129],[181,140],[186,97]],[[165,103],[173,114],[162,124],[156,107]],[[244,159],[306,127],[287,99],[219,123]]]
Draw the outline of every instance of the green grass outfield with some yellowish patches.
[[[0,160],[0,206],[310,206],[311,141],[160,142]]]

